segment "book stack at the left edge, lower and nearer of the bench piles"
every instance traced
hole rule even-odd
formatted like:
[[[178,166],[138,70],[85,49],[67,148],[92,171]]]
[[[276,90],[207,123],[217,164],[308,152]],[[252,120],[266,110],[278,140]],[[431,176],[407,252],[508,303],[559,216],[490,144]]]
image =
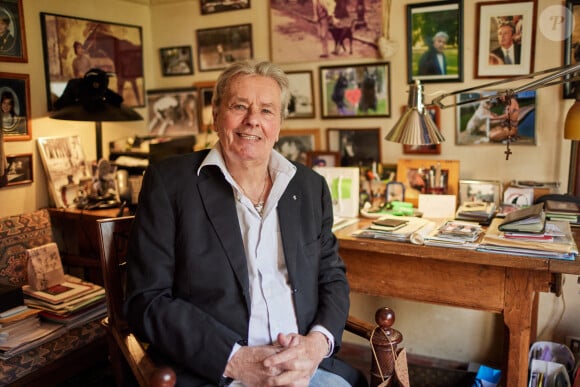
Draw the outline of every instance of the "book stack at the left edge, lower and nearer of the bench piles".
[[[41,321],[40,310],[19,306],[0,313],[0,359],[6,360],[65,333],[62,324]]]

